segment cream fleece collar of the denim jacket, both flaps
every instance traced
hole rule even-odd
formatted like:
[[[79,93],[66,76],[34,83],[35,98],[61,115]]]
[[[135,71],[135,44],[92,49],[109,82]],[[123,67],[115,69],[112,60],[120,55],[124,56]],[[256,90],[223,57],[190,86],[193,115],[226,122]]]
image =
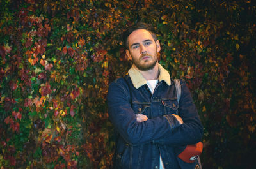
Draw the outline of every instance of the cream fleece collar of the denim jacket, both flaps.
[[[165,70],[163,66],[161,66],[161,64],[158,64],[158,67],[159,67],[159,77],[158,77],[159,82],[163,80],[164,82],[166,82],[167,85],[171,85],[170,74],[168,73],[168,71]],[[131,77],[132,84],[136,89],[147,84],[147,80],[143,77],[143,75],[141,75],[140,71],[136,69],[134,64],[129,69],[128,74]]]

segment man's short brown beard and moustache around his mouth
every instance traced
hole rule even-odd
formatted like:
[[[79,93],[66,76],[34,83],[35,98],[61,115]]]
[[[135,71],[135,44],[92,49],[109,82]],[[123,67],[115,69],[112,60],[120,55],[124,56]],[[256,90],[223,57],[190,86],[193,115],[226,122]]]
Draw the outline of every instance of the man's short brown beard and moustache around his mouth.
[[[144,64],[140,62],[140,60],[142,59],[142,57],[144,56],[150,56],[152,59],[153,59],[153,62],[150,63],[150,64],[145,64],[147,63],[148,61],[145,61]],[[138,60],[133,60],[133,63],[135,64],[135,66],[141,70],[141,71],[148,71],[148,70],[152,70],[155,66],[156,66],[156,63],[157,63],[157,54],[156,55],[148,55],[148,54],[144,54],[144,55],[141,55],[139,61]]]

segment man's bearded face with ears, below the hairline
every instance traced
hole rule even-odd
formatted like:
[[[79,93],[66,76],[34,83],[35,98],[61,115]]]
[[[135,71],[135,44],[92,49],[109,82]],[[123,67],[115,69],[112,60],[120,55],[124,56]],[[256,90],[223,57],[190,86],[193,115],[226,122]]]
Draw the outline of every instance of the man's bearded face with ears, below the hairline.
[[[158,61],[157,52],[161,49],[159,41],[155,41],[145,29],[133,31],[127,41],[129,50],[126,54],[135,66],[142,71],[152,70]]]

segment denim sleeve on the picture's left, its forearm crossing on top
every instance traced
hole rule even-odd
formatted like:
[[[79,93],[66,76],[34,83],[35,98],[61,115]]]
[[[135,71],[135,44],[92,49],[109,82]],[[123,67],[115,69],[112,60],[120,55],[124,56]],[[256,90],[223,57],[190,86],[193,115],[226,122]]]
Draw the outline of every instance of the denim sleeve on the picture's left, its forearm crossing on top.
[[[173,115],[137,122],[128,92],[124,84],[112,82],[107,96],[109,119],[125,142],[131,145],[154,142],[180,127]]]

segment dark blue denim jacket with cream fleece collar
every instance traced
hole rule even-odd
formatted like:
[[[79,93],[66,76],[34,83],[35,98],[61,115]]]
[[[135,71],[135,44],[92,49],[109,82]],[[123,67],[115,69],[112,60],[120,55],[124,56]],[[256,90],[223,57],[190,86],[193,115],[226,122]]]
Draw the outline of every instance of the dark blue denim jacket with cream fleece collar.
[[[203,133],[186,82],[180,80],[178,103],[174,82],[160,64],[153,94],[134,66],[128,74],[108,89],[108,114],[117,131],[114,168],[157,169],[160,154],[165,169],[195,168],[196,162],[185,163],[177,157],[186,145],[199,142]],[[148,120],[137,122],[136,114],[147,115]],[[184,124],[180,125],[173,114],[179,115]]]

